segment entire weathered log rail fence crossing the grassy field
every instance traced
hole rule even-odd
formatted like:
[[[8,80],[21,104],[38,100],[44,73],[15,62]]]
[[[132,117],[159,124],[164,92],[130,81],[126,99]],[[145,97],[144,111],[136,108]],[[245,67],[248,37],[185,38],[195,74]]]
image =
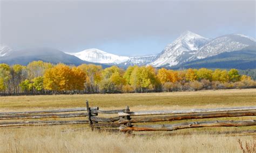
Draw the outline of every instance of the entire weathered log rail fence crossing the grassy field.
[[[99,114],[116,114],[112,117],[100,117]],[[256,106],[214,109],[157,110],[130,112],[129,107],[117,110],[100,110],[98,107],[41,110],[34,112],[0,113],[0,127],[44,126],[59,124],[89,124],[91,129],[112,128],[119,131],[172,131],[199,127],[239,127],[256,126],[256,120],[242,121],[201,121],[173,124],[147,124],[150,122],[171,122],[177,120],[208,119],[216,117],[256,116]],[[75,120],[78,118],[80,120]],[[61,120],[61,118],[71,118]],[[50,119],[50,120],[49,120]],[[7,121],[6,121],[7,120]],[[12,121],[22,120],[22,121]],[[45,121],[46,120],[46,121]],[[143,123],[143,124],[141,124]]]

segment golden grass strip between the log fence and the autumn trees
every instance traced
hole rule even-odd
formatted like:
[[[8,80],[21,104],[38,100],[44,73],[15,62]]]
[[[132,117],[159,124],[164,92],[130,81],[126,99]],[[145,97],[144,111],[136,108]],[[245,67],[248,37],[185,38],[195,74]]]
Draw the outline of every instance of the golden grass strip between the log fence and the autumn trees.
[[[0,111],[85,107],[85,100],[89,100],[91,107],[98,106],[100,109],[125,108],[125,106],[130,106],[132,110],[254,106],[256,89],[175,93],[3,96],[0,97]]]

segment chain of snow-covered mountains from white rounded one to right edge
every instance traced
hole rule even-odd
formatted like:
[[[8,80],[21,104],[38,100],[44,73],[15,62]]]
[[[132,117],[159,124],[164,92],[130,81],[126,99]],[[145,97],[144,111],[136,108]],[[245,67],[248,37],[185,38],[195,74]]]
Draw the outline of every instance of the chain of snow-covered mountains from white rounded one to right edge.
[[[173,43],[167,45],[159,54],[141,57],[119,56],[92,48],[75,55],[81,60],[119,66],[152,65],[154,67],[172,67],[187,61],[207,58],[224,52],[239,51],[255,45],[255,39],[243,34],[228,34],[213,40],[191,31],[182,33]]]

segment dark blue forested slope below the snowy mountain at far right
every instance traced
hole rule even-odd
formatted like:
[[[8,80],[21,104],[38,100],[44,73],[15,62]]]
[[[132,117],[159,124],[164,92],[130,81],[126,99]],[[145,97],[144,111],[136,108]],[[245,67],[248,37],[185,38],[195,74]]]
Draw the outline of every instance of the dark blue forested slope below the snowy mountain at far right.
[[[245,48],[240,51],[224,52],[205,59],[185,62],[170,68],[256,68],[256,47]]]

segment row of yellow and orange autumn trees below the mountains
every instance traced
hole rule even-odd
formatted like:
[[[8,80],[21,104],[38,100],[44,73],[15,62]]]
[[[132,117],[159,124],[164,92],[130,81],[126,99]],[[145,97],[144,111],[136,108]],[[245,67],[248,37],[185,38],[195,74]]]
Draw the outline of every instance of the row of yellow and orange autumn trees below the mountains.
[[[156,69],[152,66],[82,64],[68,66],[32,61],[27,66],[0,64],[0,94],[82,94],[197,91],[254,88],[256,81],[237,69]]]

